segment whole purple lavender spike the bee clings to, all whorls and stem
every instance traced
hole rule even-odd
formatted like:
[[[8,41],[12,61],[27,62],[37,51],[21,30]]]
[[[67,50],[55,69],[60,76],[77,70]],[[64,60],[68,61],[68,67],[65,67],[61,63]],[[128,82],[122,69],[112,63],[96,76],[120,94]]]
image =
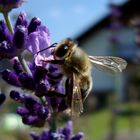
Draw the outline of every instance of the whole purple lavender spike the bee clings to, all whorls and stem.
[[[31,133],[34,140],[80,140],[83,133],[73,136],[72,122],[64,128],[56,127],[57,116],[70,107],[70,101],[67,99],[68,78],[57,64],[50,63],[53,55],[48,28],[36,17],[29,22],[26,13],[20,13],[14,27],[7,18],[7,13],[22,2],[0,0],[0,11],[5,17],[5,21],[0,21],[0,60],[8,59],[12,66],[0,71],[0,75],[20,89],[11,90],[10,97],[20,104],[16,112],[24,124],[43,127],[48,122],[50,129],[40,135]],[[32,60],[25,61],[25,50],[31,53]],[[0,94],[0,104],[4,100],[5,95]]]

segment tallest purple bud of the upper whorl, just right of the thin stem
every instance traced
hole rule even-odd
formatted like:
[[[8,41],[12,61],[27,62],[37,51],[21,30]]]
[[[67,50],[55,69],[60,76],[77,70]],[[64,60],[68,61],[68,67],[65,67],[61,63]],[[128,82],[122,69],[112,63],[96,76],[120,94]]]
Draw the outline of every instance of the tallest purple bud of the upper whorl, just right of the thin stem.
[[[26,19],[26,13],[25,12],[22,12],[19,14],[18,18],[17,18],[17,21],[16,21],[16,24],[15,24],[15,28],[19,25],[22,25],[24,27],[27,27],[28,25],[28,21]]]

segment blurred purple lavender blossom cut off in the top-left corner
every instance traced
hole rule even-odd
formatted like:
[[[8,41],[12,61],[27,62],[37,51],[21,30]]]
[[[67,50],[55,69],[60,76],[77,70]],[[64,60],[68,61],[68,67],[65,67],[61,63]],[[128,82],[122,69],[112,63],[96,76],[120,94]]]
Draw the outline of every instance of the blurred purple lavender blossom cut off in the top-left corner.
[[[0,11],[3,13],[9,12],[13,8],[21,6],[23,0],[0,0]]]

